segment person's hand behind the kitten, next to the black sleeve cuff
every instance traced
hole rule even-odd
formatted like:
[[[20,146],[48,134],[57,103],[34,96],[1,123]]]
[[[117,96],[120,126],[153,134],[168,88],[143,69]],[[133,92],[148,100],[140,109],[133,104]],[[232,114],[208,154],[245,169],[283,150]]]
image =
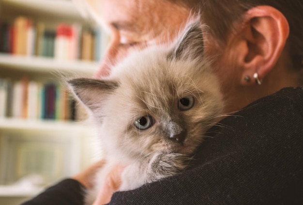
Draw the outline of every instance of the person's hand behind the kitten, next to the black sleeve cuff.
[[[105,160],[100,160],[73,176],[72,178],[80,182],[86,189],[92,188],[92,177],[95,176],[96,172],[104,165]]]

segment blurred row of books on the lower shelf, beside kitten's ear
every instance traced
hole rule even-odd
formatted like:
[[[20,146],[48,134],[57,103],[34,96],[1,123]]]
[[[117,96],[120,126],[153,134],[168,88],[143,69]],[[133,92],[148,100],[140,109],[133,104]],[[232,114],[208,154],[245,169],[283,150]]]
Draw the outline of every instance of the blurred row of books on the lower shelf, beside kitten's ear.
[[[73,120],[75,103],[61,85],[0,78],[0,118]]]

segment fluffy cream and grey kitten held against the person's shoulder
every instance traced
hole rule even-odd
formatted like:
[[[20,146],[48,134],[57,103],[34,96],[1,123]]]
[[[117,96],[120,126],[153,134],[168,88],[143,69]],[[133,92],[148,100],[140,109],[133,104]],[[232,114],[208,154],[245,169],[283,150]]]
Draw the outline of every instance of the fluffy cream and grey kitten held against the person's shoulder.
[[[106,153],[106,164],[96,176],[96,189],[89,193],[87,204],[117,164],[129,164],[120,190],[184,170],[223,107],[217,78],[203,59],[198,21],[189,23],[172,46],[134,52],[108,77],[68,83],[91,111]],[[136,128],[136,120],[147,116],[152,117],[152,126]],[[140,123],[146,125],[144,118]]]

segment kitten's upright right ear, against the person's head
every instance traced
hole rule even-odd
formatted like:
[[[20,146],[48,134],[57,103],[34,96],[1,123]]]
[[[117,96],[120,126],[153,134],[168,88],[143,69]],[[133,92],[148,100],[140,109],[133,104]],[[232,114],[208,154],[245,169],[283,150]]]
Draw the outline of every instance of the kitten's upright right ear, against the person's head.
[[[175,43],[170,59],[196,59],[203,56],[202,25],[198,19],[188,23]]]

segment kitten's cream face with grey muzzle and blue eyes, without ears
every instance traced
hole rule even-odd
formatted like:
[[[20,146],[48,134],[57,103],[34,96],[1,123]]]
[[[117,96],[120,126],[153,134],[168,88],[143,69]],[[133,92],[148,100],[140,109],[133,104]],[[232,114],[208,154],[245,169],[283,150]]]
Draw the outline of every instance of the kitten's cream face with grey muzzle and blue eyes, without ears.
[[[106,129],[119,129],[120,147],[139,153],[190,154],[221,112],[216,79],[206,64],[157,59],[132,59],[123,69],[128,72],[119,73],[119,88],[106,106]]]

